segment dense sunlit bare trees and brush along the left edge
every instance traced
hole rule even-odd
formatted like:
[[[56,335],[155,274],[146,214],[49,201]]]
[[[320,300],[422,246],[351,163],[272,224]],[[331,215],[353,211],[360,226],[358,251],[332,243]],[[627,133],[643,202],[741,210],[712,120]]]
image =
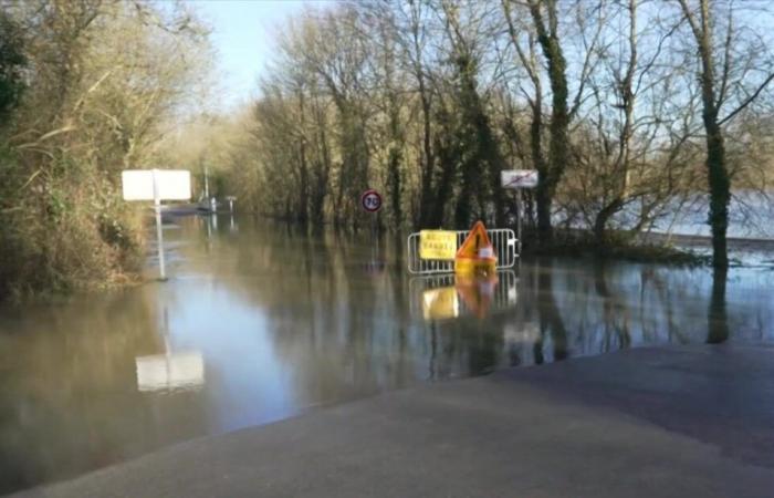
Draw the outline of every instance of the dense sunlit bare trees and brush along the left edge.
[[[0,294],[126,281],[140,260],[118,169],[157,157],[197,93],[207,31],[184,7],[116,0],[3,3],[29,83],[0,133]]]

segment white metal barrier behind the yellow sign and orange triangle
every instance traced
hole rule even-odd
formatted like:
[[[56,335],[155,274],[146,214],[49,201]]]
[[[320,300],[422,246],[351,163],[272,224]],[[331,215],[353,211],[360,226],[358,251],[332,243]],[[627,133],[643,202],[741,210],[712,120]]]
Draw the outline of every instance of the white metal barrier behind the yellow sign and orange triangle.
[[[470,230],[457,230],[457,247],[462,245],[462,241],[468,237]],[[494,253],[498,256],[498,270],[513,268],[516,263],[516,246],[519,239],[513,230],[508,228],[495,228],[487,230],[489,240],[494,247]],[[433,274],[433,273],[451,273],[454,271],[454,261],[426,260],[419,258],[419,232],[408,236],[408,272],[411,274]]]

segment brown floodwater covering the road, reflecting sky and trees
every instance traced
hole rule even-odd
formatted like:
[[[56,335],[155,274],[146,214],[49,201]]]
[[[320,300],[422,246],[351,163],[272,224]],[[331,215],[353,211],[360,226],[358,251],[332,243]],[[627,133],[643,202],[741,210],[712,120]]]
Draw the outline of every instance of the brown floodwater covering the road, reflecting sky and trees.
[[[0,309],[0,494],[416,383],[774,342],[772,264],[713,281],[554,258],[471,282],[408,276],[391,238],[229,217],[164,232],[167,282]]]

